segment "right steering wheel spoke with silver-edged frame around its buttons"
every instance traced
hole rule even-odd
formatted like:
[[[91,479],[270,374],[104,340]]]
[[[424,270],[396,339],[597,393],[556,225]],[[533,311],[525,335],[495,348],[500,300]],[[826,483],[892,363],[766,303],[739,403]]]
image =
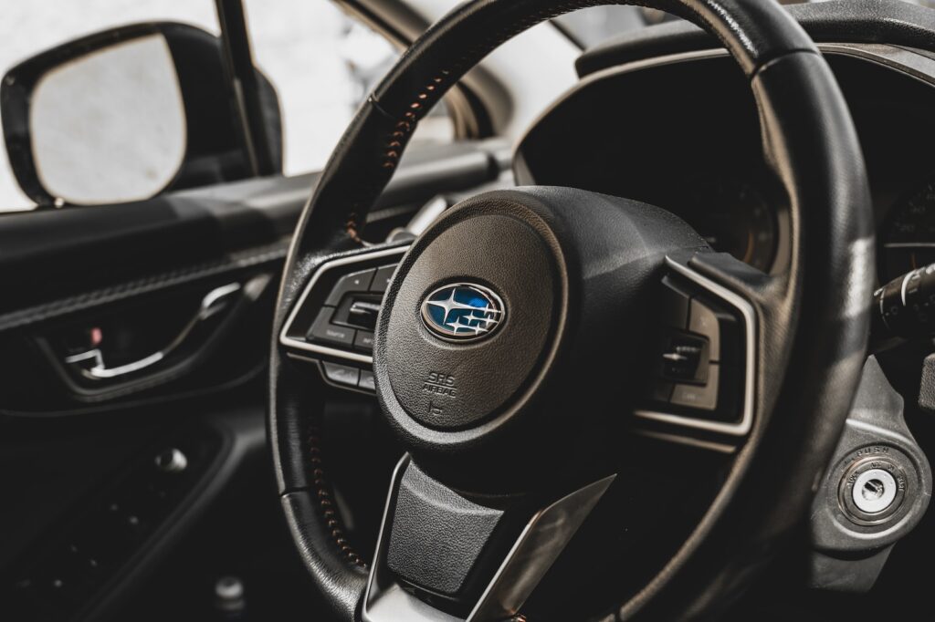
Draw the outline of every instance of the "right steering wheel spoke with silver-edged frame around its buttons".
[[[667,258],[634,425],[659,440],[729,453],[755,416],[754,293],[706,276],[692,261],[700,255]]]

